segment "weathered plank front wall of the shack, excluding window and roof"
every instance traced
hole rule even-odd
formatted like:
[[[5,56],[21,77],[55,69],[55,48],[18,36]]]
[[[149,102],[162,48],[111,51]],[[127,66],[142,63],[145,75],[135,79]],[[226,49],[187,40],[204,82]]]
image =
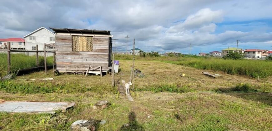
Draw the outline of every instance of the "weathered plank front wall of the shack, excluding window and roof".
[[[80,35],[80,34],[79,34]],[[72,36],[56,35],[55,46],[57,70],[66,70],[67,66],[75,65],[84,67],[87,70],[89,65],[92,67],[102,66],[108,69],[110,61],[109,47],[111,47],[110,37],[93,36],[93,51],[72,51]]]

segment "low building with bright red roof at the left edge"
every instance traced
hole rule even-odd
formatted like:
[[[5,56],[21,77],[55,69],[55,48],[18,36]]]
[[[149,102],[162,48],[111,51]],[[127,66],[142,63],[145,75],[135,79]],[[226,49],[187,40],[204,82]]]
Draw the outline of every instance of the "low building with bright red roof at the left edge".
[[[0,39],[0,49],[7,49],[8,42],[10,42],[10,49],[12,50],[25,50],[25,39],[23,38]]]

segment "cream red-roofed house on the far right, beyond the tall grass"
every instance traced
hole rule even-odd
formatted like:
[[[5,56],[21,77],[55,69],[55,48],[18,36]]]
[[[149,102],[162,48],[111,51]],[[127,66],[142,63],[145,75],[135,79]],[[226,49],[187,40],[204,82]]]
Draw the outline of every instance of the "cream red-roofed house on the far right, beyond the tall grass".
[[[246,49],[244,54],[247,59],[265,59],[265,57],[268,56],[268,51],[259,49]]]

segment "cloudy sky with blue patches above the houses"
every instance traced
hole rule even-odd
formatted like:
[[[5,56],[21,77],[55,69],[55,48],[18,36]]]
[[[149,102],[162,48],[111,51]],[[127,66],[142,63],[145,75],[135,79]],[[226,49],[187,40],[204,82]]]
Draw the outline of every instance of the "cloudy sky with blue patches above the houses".
[[[110,30],[119,51],[272,50],[271,0],[0,0],[0,38],[39,27]]]

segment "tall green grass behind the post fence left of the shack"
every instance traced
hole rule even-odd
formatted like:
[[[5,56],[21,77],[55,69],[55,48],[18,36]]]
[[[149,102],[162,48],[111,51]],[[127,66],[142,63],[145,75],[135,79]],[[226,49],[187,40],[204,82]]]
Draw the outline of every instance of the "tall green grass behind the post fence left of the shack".
[[[36,56],[27,56],[24,54],[11,54],[11,70],[16,71],[19,68],[25,69],[30,67],[36,67]],[[7,54],[0,53],[0,76],[7,74],[8,63]],[[49,56],[46,59],[47,65],[53,65],[53,56]],[[39,56],[39,66],[44,66],[44,57]]]

